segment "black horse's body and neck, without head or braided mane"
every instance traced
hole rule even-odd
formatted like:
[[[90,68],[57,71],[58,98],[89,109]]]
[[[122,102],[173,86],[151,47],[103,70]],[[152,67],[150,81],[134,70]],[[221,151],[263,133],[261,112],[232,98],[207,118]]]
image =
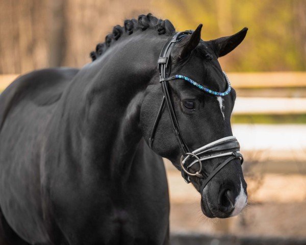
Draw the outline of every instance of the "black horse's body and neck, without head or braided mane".
[[[138,123],[144,89],[155,75],[156,46],[163,43],[152,45],[150,34],[113,50],[137,45],[147,52],[106,54],[81,70],[32,72],[1,95],[0,205],[25,241],[167,242],[165,169]],[[18,94],[18,86],[27,89]]]

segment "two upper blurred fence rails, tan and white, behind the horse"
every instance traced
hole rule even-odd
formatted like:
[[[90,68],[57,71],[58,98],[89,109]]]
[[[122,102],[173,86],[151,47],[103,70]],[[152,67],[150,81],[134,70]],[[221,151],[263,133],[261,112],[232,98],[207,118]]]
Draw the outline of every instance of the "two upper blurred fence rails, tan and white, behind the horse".
[[[16,77],[18,75],[0,75],[0,92]],[[235,115],[306,114],[306,72],[229,72],[228,77],[239,94],[234,109]],[[259,96],[257,89],[267,90],[271,97]],[[296,93],[291,92],[291,95],[284,97],[279,89],[297,91],[299,96],[296,97]],[[245,90],[255,92],[245,93]]]

